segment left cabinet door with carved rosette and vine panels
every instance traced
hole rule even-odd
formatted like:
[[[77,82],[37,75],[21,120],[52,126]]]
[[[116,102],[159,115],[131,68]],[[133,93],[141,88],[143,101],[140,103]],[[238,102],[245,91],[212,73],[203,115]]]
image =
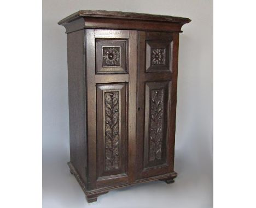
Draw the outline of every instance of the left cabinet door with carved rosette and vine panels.
[[[89,189],[119,186],[134,180],[137,33],[85,33]]]

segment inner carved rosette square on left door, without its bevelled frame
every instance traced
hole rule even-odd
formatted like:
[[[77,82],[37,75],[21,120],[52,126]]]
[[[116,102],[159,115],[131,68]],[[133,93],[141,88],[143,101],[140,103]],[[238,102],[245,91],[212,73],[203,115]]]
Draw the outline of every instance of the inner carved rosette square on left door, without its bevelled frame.
[[[120,47],[103,47],[103,66],[120,66]]]

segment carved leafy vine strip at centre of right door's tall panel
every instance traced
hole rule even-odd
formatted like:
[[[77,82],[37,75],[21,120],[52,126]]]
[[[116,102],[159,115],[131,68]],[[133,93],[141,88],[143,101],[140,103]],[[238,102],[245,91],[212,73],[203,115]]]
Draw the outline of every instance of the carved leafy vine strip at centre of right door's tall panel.
[[[149,161],[161,159],[164,90],[150,91]]]

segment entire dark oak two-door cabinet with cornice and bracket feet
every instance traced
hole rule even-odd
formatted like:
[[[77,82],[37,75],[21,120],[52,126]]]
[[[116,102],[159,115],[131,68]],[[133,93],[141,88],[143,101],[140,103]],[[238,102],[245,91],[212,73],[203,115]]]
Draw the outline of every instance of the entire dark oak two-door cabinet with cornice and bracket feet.
[[[82,10],[67,33],[70,157],[88,202],[174,182],[178,41],[187,18]]]

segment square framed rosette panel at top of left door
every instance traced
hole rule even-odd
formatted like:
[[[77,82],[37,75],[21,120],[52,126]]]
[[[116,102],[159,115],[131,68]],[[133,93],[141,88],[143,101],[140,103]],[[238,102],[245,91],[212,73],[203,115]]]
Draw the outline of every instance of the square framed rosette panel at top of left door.
[[[127,73],[127,40],[96,39],[96,74]]]

